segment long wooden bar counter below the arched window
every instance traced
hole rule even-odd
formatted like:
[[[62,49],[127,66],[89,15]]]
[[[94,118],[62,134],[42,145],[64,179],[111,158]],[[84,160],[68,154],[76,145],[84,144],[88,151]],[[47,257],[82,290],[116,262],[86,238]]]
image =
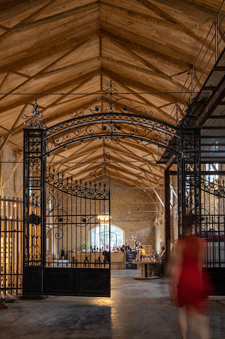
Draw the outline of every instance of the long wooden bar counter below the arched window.
[[[87,257],[88,261],[84,261],[85,258]],[[95,266],[95,260],[100,257],[101,262],[96,261],[96,266]],[[125,270],[125,253],[122,252],[111,252],[110,253],[111,257],[111,270]],[[72,267],[104,267],[104,259],[105,257],[101,253],[74,253],[70,252],[68,253],[68,259],[70,262],[72,262]],[[76,262],[77,260],[77,262]],[[106,267],[108,264],[106,264]]]

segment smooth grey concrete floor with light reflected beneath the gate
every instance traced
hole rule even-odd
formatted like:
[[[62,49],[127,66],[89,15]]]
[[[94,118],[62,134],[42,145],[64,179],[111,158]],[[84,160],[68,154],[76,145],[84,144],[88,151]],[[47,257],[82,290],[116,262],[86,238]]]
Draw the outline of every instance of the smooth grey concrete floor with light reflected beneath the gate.
[[[0,310],[0,338],[180,338],[165,278],[134,280],[111,272],[111,298],[48,297],[8,302]],[[212,338],[225,338],[225,297],[207,301]],[[219,301],[217,301],[218,299]],[[189,332],[190,339],[197,336]]]

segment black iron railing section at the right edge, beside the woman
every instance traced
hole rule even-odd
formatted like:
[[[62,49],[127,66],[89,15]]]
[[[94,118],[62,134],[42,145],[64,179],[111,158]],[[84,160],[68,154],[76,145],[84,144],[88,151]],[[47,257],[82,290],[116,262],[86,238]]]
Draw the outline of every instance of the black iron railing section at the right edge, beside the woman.
[[[201,176],[201,238],[204,239],[204,270],[214,281],[214,294],[224,295],[225,286],[225,187],[224,174]]]

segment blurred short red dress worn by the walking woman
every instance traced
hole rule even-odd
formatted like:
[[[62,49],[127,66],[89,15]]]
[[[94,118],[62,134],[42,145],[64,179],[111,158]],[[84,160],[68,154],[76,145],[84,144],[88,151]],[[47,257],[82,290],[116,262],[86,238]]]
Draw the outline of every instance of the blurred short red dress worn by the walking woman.
[[[202,239],[189,235],[179,241],[182,248],[182,269],[178,282],[178,306],[194,307],[198,312],[204,311],[205,278],[199,270],[199,257],[202,255]],[[204,281],[203,281],[204,280]]]

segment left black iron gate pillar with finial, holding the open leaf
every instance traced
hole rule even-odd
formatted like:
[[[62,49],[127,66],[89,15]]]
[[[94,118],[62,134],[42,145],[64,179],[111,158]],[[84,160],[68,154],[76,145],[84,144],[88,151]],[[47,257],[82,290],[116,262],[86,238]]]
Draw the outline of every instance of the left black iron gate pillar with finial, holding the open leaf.
[[[23,293],[22,298],[43,299],[42,271],[45,262],[45,142],[38,105],[24,129],[23,179]],[[25,123],[27,118],[25,118]],[[37,121],[37,119],[41,121]],[[26,125],[25,125],[26,126]]]

